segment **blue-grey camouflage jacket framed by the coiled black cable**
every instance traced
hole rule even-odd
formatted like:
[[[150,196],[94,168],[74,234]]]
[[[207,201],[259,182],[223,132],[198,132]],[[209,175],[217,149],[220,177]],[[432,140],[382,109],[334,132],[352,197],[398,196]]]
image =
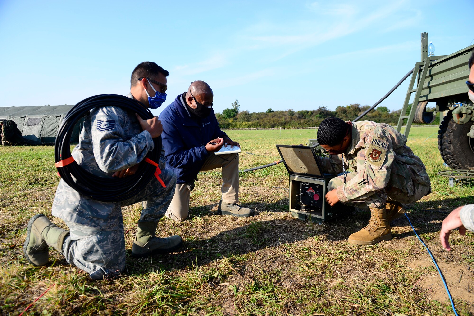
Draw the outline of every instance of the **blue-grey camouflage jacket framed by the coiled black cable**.
[[[127,97],[133,98],[131,94]],[[135,113],[118,106],[94,108],[84,119],[79,144],[73,149],[74,160],[96,176],[112,176],[142,161],[155,143],[151,134],[141,132]],[[165,167],[164,152],[159,161]]]

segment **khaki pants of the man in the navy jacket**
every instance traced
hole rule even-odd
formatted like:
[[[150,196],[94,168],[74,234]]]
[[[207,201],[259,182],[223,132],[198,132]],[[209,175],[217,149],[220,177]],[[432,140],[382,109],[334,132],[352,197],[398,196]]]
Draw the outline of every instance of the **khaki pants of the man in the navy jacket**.
[[[206,159],[201,171],[209,171],[222,167],[222,202],[238,202],[238,154],[214,155]],[[189,194],[194,187],[192,183],[177,183],[173,200],[164,214],[169,219],[182,221],[188,217]]]

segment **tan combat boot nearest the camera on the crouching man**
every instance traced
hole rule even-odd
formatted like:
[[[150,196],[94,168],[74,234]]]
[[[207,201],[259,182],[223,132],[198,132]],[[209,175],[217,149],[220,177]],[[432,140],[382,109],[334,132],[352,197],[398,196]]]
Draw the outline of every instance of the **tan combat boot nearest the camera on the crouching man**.
[[[350,235],[347,240],[349,244],[373,245],[381,240],[392,239],[392,231],[390,230],[390,225],[387,221],[385,208],[376,209],[371,207],[370,211],[372,214],[369,220],[369,225]]]

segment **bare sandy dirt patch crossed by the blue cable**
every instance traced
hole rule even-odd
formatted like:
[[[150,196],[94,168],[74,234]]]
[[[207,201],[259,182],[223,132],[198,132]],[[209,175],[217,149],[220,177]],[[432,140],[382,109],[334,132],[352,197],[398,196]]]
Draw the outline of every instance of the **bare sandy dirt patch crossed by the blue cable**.
[[[439,269],[445,277],[447,287],[451,296],[456,299],[462,299],[469,303],[474,303],[474,272],[469,266],[449,264],[438,262]],[[417,270],[433,267],[434,263],[428,260],[416,260],[408,263],[408,267]],[[427,297],[440,302],[449,301],[443,281],[439,277],[438,271],[429,272],[415,283],[427,290]]]

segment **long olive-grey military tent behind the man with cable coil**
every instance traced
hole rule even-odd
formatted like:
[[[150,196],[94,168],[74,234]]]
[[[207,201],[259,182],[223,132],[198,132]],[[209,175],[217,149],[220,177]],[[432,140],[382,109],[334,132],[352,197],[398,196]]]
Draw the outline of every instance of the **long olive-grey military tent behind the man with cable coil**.
[[[36,144],[54,143],[59,126],[73,105],[0,106],[0,121],[12,120],[22,136]],[[74,127],[71,142],[79,141],[83,120]]]

